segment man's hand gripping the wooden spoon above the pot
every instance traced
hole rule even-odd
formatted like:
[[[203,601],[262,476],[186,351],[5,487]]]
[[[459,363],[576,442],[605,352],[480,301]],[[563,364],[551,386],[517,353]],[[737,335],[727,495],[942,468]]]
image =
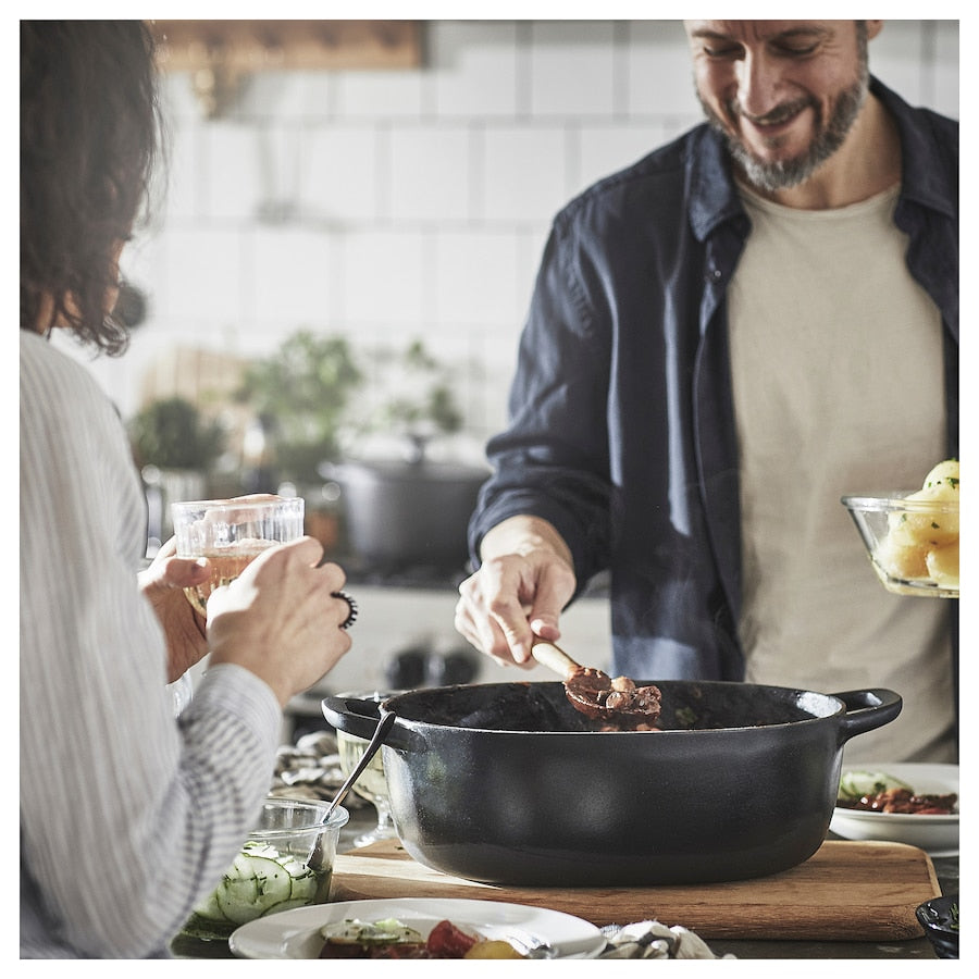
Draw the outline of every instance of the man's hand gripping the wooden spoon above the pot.
[[[533,666],[534,636],[560,639],[560,615],[574,594],[568,546],[546,521],[511,517],[485,535],[481,557],[459,585],[456,629],[498,662]]]

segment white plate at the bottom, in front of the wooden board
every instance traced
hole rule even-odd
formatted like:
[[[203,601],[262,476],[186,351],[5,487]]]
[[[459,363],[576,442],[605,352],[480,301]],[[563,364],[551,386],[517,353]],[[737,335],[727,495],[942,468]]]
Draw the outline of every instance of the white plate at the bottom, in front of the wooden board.
[[[490,939],[531,938],[550,945],[557,958],[594,958],[605,947],[602,932],[591,922],[563,912],[505,904],[499,901],[397,897],[317,904],[257,918],[228,939],[238,958],[318,958],[323,947],[320,929],[332,921],[397,918],[427,937],[439,921],[449,920]]]

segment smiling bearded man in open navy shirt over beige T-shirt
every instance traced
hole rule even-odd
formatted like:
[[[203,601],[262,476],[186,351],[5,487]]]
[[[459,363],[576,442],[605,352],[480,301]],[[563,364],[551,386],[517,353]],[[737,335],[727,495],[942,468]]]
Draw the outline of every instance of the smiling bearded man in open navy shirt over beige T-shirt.
[[[958,454],[958,124],[881,21],[687,21],[707,122],[556,216],[456,628],[526,665],[610,572],[617,673],[890,687],[847,758],[957,760],[957,602],[885,592],[840,497]]]

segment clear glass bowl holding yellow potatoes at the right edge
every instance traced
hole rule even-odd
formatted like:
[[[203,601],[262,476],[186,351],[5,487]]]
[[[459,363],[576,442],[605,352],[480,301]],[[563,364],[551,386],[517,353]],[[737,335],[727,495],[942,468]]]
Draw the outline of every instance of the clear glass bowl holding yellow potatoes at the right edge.
[[[958,597],[958,500],[844,496],[870,565],[895,595]]]

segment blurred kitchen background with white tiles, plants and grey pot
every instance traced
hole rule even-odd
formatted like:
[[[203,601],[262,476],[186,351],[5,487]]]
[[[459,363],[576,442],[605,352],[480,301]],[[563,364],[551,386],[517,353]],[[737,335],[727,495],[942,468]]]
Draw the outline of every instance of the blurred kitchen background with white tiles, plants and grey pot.
[[[453,630],[464,515],[550,219],[701,121],[681,22],[157,23],[169,186],[90,362],[150,552],[171,497],[299,493],[361,605],[333,691],[512,679]],[[958,117],[957,21],[887,22],[870,67]],[[600,582],[562,624],[607,661]]]

